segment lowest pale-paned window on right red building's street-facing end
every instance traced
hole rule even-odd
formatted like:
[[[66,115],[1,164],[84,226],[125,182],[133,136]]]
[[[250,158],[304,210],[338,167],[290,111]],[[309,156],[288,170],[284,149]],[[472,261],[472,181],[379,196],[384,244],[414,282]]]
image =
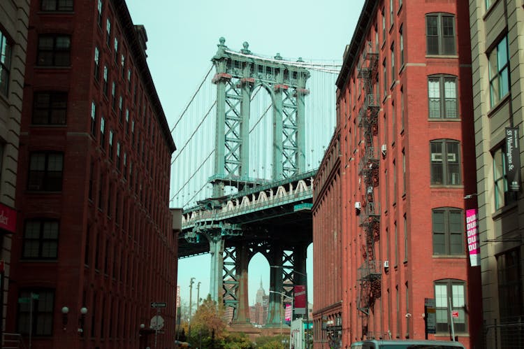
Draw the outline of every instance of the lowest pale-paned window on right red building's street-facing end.
[[[451,327],[451,310],[458,311],[458,318],[453,318],[455,333],[465,333],[466,327],[466,292],[465,283],[460,280],[439,280],[435,282],[435,306],[437,313],[437,334],[449,334]]]

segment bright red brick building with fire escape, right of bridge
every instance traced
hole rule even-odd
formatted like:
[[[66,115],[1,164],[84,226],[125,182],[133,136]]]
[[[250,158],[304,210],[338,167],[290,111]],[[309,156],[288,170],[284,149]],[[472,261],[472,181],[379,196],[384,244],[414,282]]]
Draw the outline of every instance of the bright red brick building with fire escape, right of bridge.
[[[314,211],[315,348],[337,336],[318,328],[336,301],[342,347],[424,339],[425,299],[435,302],[430,339],[450,339],[453,321],[467,348],[479,340],[480,275],[465,235],[464,197],[476,191],[472,125],[467,2],[365,1],[337,79],[340,152],[326,152],[316,178],[340,193],[315,196],[314,207],[336,203]],[[333,156],[340,180],[325,179]],[[340,248],[328,245],[337,224]]]

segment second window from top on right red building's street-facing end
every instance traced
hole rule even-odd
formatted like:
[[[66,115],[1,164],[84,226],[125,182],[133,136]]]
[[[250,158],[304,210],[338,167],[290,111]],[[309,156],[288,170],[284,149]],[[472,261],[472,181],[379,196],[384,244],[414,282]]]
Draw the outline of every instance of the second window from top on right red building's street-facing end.
[[[456,119],[458,117],[457,78],[430,76],[428,101],[430,119]]]

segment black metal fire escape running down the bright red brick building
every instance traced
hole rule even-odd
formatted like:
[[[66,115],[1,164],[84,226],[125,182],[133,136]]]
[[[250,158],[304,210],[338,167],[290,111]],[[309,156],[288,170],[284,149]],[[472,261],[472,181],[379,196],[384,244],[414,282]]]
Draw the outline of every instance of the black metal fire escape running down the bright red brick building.
[[[358,78],[363,82],[364,102],[358,113],[358,127],[363,131],[364,150],[358,163],[364,193],[361,199],[360,225],[363,229],[363,263],[358,268],[359,292],[357,307],[361,312],[362,335],[369,336],[367,322],[374,302],[381,295],[381,262],[377,260],[374,245],[380,237],[380,204],[375,200],[379,185],[379,154],[374,140],[378,134],[379,93],[377,87],[378,52],[368,41],[358,63]]]

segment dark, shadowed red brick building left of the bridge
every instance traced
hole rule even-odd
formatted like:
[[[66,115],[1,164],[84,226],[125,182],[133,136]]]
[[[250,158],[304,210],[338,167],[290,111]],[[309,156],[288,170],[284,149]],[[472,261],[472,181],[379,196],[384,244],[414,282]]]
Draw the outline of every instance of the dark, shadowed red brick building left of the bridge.
[[[33,348],[152,347],[155,301],[174,341],[175,143],[146,41],[123,0],[31,1],[6,329]]]

